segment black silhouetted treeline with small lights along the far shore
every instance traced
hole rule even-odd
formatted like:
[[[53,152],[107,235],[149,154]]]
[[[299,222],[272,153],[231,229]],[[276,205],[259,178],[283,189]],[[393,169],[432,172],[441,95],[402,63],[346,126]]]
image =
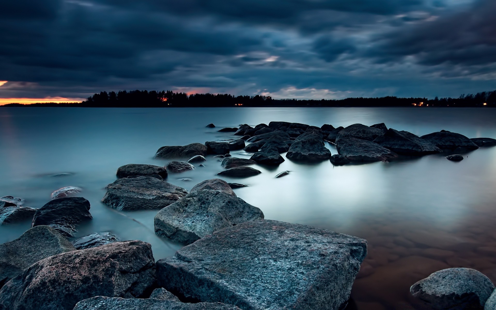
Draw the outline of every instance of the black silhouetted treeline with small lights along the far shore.
[[[4,106],[34,107],[496,107],[496,91],[461,95],[458,98],[346,98],[339,100],[272,99],[266,96],[233,96],[229,94],[192,94],[173,91],[103,91],[81,103],[37,103]]]

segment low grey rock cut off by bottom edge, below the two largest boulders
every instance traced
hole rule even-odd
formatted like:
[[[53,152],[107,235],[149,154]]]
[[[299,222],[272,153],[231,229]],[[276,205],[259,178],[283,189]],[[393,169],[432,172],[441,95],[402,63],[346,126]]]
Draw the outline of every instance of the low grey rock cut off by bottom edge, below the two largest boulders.
[[[156,291],[156,290],[155,290]],[[236,306],[221,303],[182,303],[179,300],[159,298],[124,299],[97,296],[76,304],[74,310],[241,310]]]

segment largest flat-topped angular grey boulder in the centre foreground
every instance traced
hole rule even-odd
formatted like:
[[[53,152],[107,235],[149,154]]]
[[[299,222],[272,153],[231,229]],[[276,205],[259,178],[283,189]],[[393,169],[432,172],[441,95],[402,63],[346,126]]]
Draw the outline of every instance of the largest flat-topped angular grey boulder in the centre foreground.
[[[157,262],[158,284],[244,310],[343,309],[367,254],[363,239],[261,220],[214,232]]]

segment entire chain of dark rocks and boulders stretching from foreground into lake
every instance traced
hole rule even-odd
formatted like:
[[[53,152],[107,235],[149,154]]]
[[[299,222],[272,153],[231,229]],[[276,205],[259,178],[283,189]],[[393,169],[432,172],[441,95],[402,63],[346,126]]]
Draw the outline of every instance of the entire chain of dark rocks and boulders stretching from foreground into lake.
[[[286,159],[338,166],[443,152],[460,161],[462,154],[496,145],[492,138],[446,130],[419,137],[385,124],[271,122],[218,131],[241,138],[163,146],[155,158],[172,161],[124,165],[106,187],[102,202],[111,208],[157,210],[155,233],[185,246],[173,257],[156,261],[150,244],[121,241],[110,232],[73,238],[78,225],[92,219],[78,187],[54,191],[40,209],[0,198],[0,225],[32,219],[31,229],[0,245],[0,310],[343,310],[356,277],[367,272],[366,240],[264,219],[233,191],[243,184],[217,178],[187,191],[165,179],[196,169],[206,157],[224,168],[218,176],[248,178],[261,173],[251,166],[277,167]],[[238,150],[251,158],[231,156]],[[494,290],[477,270],[448,268],[412,283],[410,293],[433,309],[496,310]]]

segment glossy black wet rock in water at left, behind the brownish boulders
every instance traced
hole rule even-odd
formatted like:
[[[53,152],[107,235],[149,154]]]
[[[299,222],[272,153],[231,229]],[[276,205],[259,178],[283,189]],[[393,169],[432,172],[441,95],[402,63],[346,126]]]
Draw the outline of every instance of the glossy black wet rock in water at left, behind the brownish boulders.
[[[90,202],[83,197],[64,197],[47,202],[36,210],[32,227],[48,225],[64,237],[74,237],[79,223],[91,220]]]

